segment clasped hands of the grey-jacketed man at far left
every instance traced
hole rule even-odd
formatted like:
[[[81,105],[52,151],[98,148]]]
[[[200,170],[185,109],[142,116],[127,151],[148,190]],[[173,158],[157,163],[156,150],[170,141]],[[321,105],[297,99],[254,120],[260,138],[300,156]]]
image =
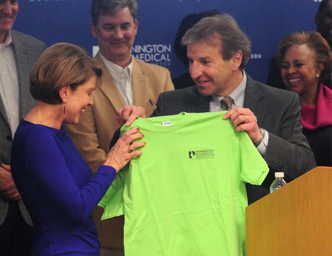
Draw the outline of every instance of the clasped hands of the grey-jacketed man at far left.
[[[18,193],[11,177],[10,165],[4,163],[0,165],[0,195],[9,201],[21,199],[21,195]]]

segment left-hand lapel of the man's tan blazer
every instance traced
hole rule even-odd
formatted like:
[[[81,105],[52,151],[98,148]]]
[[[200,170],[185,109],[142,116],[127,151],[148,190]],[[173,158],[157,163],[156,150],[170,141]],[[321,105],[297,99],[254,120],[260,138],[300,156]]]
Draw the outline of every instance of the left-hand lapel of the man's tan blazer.
[[[109,99],[109,101],[111,102],[116,111],[125,106],[122,100],[122,96],[120,95],[120,92],[117,90],[117,87],[110,75],[109,70],[102,61],[100,57],[100,52],[98,52],[95,59],[100,68],[103,70],[102,87],[100,88],[100,90],[106,95],[106,97]]]

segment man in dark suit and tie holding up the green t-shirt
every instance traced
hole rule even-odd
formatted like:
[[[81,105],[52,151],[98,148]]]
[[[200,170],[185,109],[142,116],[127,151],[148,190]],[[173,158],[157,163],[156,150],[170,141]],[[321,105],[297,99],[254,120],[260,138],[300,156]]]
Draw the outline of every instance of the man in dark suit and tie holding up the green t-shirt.
[[[251,44],[230,15],[200,20],[182,44],[196,86],[162,93],[152,116],[229,110],[224,118],[248,133],[270,168],[261,186],[247,185],[249,204],[270,193],[274,172],[284,172],[290,181],[316,166],[302,134],[298,95],[256,82],[244,71]],[[143,109],[127,106],[117,120],[130,124],[136,116],[144,117]]]

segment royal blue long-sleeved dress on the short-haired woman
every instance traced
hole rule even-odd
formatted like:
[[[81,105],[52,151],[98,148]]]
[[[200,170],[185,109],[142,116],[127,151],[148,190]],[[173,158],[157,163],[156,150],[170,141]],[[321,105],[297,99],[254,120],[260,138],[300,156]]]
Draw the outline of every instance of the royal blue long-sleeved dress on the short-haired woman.
[[[89,166],[68,134],[22,120],[12,143],[11,172],[34,224],[31,255],[98,255],[91,212],[116,171]]]

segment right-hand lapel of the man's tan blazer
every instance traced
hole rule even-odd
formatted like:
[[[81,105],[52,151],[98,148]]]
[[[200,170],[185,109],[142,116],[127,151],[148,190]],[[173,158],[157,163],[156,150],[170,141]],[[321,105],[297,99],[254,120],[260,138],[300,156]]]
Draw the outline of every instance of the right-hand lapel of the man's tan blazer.
[[[133,73],[131,77],[133,86],[134,104],[146,107],[148,99],[149,77],[144,74],[144,69],[139,62],[133,58]]]

